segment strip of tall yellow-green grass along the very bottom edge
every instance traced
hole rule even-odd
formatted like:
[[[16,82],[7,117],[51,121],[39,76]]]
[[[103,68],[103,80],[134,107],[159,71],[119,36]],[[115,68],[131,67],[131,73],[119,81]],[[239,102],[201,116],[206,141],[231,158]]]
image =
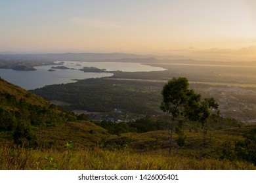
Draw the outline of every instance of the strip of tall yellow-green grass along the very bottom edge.
[[[125,149],[113,152],[100,148],[60,152],[2,146],[0,169],[256,169],[244,161],[169,157],[164,152],[130,153]]]

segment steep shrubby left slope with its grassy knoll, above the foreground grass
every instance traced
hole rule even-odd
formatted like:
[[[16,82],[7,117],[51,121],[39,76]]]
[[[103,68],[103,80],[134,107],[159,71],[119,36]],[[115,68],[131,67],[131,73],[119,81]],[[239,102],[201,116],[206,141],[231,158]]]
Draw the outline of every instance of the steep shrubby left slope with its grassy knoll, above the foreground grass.
[[[0,78],[0,141],[33,148],[96,146],[112,136],[91,122]]]

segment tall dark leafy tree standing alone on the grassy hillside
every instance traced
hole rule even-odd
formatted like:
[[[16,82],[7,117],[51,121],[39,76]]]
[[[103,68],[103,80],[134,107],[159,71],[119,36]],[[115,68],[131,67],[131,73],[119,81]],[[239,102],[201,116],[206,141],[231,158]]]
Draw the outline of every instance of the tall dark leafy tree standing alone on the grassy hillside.
[[[187,78],[172,78],[163,86],[161,94],[163,101],[161,102],[161,110],[165,112],[165,120],[169,118],[169,156],[171,156],[173,132],[178,135],[181,133],[182,126],[185,122],[199,122],[203,129],[206,129],[208,118],[217,112],[218,104],[213,98],[201,100],[201,95],[188,89]],[[213,109],[213,110],[212,110]],[[205,133],[206,134],[206,133]],[[180,139],[182,140],[182,139]],[[180,141],[182,144],[182,141]]]

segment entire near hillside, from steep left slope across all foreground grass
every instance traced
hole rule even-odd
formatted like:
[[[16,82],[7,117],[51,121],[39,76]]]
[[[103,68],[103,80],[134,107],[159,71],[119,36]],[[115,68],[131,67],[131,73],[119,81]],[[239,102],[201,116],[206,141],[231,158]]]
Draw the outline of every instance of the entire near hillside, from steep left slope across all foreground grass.
[[[102,82],[89,80],[95,81]],[[110,84],[104,81],[102,85]],[[5,80],[0,82],[0,169],[256,169],[255,125],[219,117],[207,125],[203,137],[200,122],[205,121],[184,123],[182,130],[175,128],[169,157],[171,121],[165,123],[164,115],[127,123],[88,122],[85,114],[76,116]],[[131,83],[116,85],[136,93]],[[146,97],[156,90],[147,84],[137,88]],[[199,101],[198,107],[209,108],[211,99]]]

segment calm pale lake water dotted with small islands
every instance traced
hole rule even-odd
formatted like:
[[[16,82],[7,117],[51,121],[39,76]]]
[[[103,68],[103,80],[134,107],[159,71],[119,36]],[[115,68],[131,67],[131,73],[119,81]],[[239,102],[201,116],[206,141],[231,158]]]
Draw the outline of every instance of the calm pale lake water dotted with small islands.
[[[152,67],[142,65],[140,63],[116,63],[116,62],[81,62],[81,61],[63,61],[65,66],[73,69],[54,69],[56,71],[49,72],[48,69],[58,65],[37,66],[37,71],[14,71],[12,69],[0,69],[0,77],[21,86],[26,90],[33,90],[51,84],[66,84],[76,82],[79,79],[102,78],[112,76],[112,73],[84,73],[77,69],[83,67],[97,67],[98,69],[106,69],[106,71],[164,71],[161,67]],[[57,62],[56,62],[57,63]]]

